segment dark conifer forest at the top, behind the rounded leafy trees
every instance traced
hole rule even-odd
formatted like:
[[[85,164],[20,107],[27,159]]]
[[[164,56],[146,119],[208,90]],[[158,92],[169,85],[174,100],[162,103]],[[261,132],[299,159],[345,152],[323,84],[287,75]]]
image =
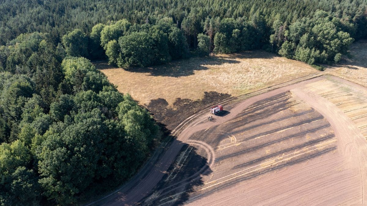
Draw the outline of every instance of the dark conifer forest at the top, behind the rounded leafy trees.
[[[12,0],[0,3],[0,45],[22,33],[49,33],[54,43],[73,29],[89,34],[94,25],[127,19],[142,24],[168,16],[181,27],[190,27],[190,40],[202,32],[200,23],[209,18],[240,18],[247,20],[258,12],[272,25],[276,15],[289,24],[299,18],[312,17],[316,10],[366,26],[366,0]],[[358,36],[366,32],[358,29]],[[355,38],[353,36],[353,38]],[[360,38],[360,37],[357,37]]]

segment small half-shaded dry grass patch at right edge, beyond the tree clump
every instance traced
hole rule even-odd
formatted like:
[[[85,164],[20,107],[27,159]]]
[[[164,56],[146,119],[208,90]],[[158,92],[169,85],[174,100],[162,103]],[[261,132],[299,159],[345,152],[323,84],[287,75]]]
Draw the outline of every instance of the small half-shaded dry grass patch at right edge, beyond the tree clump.
[[[367,87],[367,40],[360,40],[350,47],[351,58],[335,65],[330,73]]]

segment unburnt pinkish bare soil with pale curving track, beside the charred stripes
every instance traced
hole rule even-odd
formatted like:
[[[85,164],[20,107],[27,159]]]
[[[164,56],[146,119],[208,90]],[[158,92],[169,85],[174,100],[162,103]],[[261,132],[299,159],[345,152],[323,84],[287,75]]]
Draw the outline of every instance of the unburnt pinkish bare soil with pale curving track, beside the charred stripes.
[[[366,205],[367,144],[358,128],[334,104],[313,93],[293,89],[332,126],[337,154],[264,174],[213,192],[191,205]]]

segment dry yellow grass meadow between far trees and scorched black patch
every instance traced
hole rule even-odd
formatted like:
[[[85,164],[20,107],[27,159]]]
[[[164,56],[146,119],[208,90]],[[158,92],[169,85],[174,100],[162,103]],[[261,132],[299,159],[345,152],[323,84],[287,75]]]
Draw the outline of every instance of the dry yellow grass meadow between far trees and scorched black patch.
[[[191,58],[165,65],[124,70],[96,64],[120,92],[130,93],[140,104],[163,98],[201,99],[204,92],[233,96],[316,73],[309,65],[265,51]]]

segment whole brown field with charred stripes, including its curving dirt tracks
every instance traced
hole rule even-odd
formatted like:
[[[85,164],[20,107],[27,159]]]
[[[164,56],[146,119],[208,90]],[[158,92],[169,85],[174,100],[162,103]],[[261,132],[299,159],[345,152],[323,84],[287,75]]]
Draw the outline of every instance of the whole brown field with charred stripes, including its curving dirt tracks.
[[[237,101],[213,121],[198,116],[98,205],[366,204],[367,141],[315,90],[327,81],[358,87],[317,77]]]

